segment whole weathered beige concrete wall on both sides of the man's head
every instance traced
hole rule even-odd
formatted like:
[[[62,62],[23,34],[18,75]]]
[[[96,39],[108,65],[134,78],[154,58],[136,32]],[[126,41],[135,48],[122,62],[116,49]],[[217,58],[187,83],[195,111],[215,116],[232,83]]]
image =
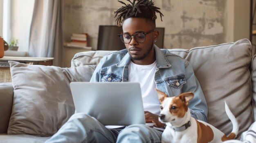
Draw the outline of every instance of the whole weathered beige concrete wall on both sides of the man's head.
[[[122,0],[128,2],[126,0]],[[193,48],[226,42],[227,0],[153,0],[164,14],[157,27],[165,27],[164,48]],[[65,0],[64,40],[72,33],[89,33],[88,46],[97,48],[99,25],[116,25],[117,0]]]

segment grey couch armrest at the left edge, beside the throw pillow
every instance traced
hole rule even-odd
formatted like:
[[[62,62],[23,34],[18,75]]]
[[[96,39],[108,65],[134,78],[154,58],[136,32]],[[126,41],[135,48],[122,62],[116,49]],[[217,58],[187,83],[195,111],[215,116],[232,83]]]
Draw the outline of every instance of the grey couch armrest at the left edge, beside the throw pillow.
[[[6,134],[13,103],[13,85],[11,82],[0,83],[0,134]]]

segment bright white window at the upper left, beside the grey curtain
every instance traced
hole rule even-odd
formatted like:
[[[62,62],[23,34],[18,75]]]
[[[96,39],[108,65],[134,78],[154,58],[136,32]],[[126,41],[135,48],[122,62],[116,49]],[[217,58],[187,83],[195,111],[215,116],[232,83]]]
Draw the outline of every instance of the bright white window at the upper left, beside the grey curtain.
[[[1,4],[2,2],[2,4]],[[28,51],[30,25],[34,0],[0,0],[0,35],[9,43],[12,38],[19,40],[18,51]]]

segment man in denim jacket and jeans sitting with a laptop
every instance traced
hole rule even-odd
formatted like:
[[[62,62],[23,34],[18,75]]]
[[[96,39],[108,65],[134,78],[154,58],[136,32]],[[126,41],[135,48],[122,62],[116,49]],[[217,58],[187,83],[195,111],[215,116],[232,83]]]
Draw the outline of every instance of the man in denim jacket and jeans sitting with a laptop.
[[[189,103],[191,116],[207,121],[207,103],[189,62],[154,45],[159,34],[155,31],[156,12],[162,19],[162,13],[152,0],[134,0],[115,11],[117,24],[123,23],[123,33],[119,37],[125,43],[126,49],[103,57],[92,75],[91,82],[139,82],[146,122],[153,122],[158,128],[164,128],[164,124],[158,120],[160,102],[155,88],[168,96],[192,91],[195,97]],[[47,143],[146,143],[160,142],[161,135],[162,130],[147,125],[108,129],[97,119],[78,113],[70,117]]]

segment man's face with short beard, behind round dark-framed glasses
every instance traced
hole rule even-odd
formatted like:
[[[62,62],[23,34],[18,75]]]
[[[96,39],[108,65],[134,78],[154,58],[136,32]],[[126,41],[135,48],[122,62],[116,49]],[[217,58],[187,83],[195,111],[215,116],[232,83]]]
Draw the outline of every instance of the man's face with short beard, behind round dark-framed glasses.
[[[143,18],[128,18],[123,22],[123,32],[133,35],[138,32],[146,33],[155,29],[153,24]],[[154,40],[157,39],[158,32],[154,31],[146,34],[146,40],[137,42],[132,36],[130,43],[125,44],[132,62],[135,64],[147,65],[155,62]]]

